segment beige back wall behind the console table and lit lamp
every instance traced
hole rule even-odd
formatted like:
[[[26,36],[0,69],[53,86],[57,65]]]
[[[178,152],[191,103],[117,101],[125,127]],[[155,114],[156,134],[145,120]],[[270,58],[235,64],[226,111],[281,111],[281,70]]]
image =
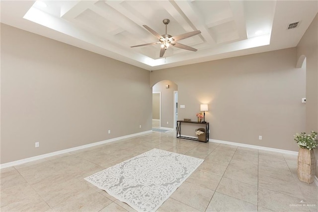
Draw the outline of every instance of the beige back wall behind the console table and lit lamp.
[[[298,151],[293,135],[306,125],[306,72],[295,68],[295,58],[289,48],[163,69],[151,73],[150,83],[178,85],[178,105],[185,105],[178,119],[196,120],[200,104],[208,104],[212,139]]]

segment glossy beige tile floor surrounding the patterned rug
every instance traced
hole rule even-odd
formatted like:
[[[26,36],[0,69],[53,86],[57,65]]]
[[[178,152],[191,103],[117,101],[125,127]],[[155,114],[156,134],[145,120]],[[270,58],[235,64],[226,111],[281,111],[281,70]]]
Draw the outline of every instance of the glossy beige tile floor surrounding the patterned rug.
[[[298,180],[296,156],[176,139],[175,132],[152,132],[2,169],[0,211],[134,211],[83,178],[153,148],[205,159],[158,212],[318,211],[318,187]]]

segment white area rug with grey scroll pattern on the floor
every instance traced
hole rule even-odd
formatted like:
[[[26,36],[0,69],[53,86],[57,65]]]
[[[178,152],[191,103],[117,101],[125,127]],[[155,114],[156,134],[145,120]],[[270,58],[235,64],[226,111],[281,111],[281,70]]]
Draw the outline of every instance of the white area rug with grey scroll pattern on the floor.
[[[136,211],[153,212],[203,161],[152,149],[86,177],[85,180]]]

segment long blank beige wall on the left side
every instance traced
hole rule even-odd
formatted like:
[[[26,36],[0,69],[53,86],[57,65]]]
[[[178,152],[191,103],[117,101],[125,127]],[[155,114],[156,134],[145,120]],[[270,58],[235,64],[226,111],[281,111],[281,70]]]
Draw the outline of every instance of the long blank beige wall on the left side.
[[[1,24],[0,163],[151,130],[149,75]]]

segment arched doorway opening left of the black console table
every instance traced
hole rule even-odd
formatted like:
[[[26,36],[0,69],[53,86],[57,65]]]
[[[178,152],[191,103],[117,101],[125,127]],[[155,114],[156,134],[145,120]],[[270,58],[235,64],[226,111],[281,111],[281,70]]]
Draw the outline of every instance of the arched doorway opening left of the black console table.
[[[162,80],[153,86],[153,130],[173,130],[177,119],[178,85]]]

